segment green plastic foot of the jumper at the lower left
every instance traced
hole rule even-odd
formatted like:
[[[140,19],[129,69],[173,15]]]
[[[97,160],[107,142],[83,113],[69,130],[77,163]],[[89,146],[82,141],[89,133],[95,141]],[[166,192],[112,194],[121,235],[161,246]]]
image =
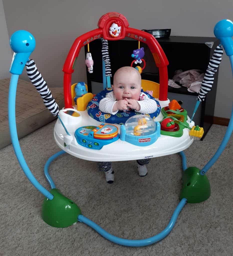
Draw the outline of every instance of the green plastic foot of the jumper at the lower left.
[[[50,191],[52,200],[45,198],[42,206],[42,219],[50,226],[66,228],[77,222],[81,210],[69,198],[54,188]]]

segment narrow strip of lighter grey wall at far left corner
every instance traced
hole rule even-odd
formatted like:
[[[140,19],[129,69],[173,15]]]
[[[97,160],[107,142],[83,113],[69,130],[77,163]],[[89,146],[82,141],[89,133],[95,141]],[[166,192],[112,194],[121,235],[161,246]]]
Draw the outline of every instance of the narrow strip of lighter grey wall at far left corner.
[[[9,48],[9,38],[2,0],[0,0],[0,35],[0,79],[4,79],[10,77],[9,68],[12,54]]]

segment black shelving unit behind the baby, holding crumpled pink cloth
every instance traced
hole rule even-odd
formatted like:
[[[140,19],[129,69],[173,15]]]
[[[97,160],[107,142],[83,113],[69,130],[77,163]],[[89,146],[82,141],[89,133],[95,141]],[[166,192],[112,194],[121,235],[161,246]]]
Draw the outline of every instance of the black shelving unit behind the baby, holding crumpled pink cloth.
[[[170,36],[169,38],[156,38],[156,40],[160,43],[169,61],[167,67],[168,79],[172,79],[174,72],[179,69],[183,71],[200,69],[205,72],[209,59],[214,53],[214,49],[220,43],[215,37]],[[213,47],[210,48],[207,46],[206,42],[213,42]],[[143,70],[142,79],[159,83],[158,68],[155,65],[149,47],[142,42],[140,43],[140,47],[144,47],[144,59],[146,61],[146,68]],[[90,43],[90,52],[94,60],[94,71],[92,74],[87,72],[87,83],[88,91],[93,91],[93,93],[100,91],[102,88],[102,85],[100,85],[100,87],[97,86],[98,83],[102,84],[101,48],[102,43],[100,39]],[[114,74],[120,67],[131,65],[133,60],[131,54],[133,50],[137,48],[138,41],[131,38],[109,41],[112,74]],[[85,56],[86,52],[87,46],[85,46]],[[113,79],[111,79],[111,83],[113,83],[112,80]],[[195,124],[204,128],[204,136],[213,124],[217,81],[218,72],[215,74],[212,91],[207,94],[206,100],[200,104],[199,109],[194,116]],[[95,91],[97,89],[96,86],[98,87],[97,91]],[[181,100],[183,102],[182,107],[185,108],[188,111],[189,116],[191,116],[196,103],[197,93],[188,92],[185,87],[168,87],[168,98],[170,100]]]

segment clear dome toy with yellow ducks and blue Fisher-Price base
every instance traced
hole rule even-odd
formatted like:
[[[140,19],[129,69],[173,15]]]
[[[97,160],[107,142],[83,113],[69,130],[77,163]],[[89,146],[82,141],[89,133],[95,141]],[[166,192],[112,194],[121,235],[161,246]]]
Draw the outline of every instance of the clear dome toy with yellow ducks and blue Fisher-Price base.
[[[134,115],[120,128],[120,139],[137,146],[148,146],[160,136],[160,123],[147,115]]]

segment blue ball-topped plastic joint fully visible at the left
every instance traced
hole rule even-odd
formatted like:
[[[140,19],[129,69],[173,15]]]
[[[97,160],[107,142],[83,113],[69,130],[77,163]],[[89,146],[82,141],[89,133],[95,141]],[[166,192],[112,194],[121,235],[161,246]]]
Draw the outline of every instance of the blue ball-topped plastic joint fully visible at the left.
[[[36,47],[36,40],[28,31],[18,30],[10,38],[10,47],[14,51],[10,73],[20,75]]]

